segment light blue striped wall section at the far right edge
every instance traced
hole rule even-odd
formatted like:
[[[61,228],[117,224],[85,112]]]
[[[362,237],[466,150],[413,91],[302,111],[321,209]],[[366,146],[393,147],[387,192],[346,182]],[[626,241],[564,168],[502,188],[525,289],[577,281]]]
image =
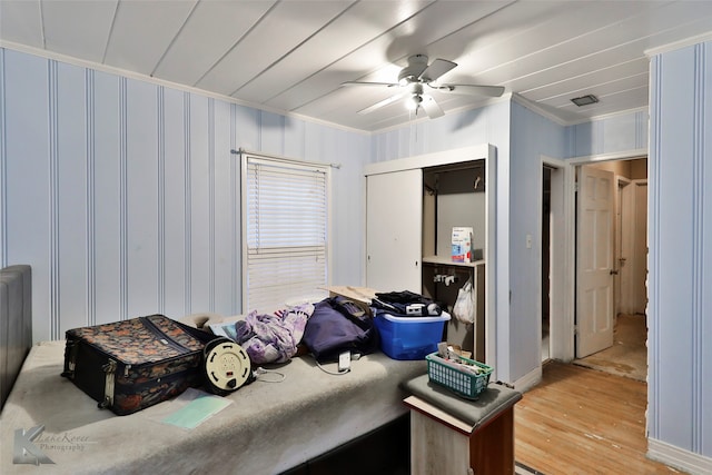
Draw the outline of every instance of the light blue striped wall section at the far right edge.
[[[651,62],[650,437],[712,457],[712,42]],[[712,466],[712,462],[708,466]]]

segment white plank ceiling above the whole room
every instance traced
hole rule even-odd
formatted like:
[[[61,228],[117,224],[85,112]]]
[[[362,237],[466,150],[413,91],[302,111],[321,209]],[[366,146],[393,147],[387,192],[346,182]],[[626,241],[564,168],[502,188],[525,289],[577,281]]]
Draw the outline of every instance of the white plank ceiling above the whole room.
[[[710,33],[705,0],[0,0],[4,47],[367,131],[414,117],[359,115],[394,88],[342,82],[396,82],[411,55],[457,62],[439,82],[504,86],[574,123],[647,106],[645,51]],[[570,100],[587,93],[600,102]],[[446,113],[486,100],[433,96]]]

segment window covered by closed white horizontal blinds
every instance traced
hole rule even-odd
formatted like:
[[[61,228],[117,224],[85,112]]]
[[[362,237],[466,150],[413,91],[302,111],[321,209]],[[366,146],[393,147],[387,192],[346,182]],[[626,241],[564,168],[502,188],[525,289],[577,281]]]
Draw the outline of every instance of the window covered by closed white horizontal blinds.
[[[324,297],[329,167],[243,154],[243,310]]]

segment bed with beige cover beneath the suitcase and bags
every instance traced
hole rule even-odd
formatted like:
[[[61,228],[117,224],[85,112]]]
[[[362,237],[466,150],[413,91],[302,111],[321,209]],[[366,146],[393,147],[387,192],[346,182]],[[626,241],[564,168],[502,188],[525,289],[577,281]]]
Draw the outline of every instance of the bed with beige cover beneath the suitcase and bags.
[[[51,462],[53,474],[278,474],[406,414],[400,384],[426,373],[423,360],[380,352],[340,376],[320,370],[310,356],[295,357],[276,368],[284,382],[260,376],[187,429],[164,422],[177,400],[129,416],[98,409],[60,376],[63,348],[63,342],[32,346],[0,415],[0,473],[34,474],[32,462]]]

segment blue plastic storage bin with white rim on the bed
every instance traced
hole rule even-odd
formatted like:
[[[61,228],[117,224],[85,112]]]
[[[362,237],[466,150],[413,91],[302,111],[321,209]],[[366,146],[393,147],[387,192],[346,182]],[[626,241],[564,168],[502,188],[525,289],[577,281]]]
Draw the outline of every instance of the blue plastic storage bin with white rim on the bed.
[[[380,335],[380,349],[393,359],[425,359],[437,350],[449,315],[436,317],[396,317],[378,314],[374,323]]]

